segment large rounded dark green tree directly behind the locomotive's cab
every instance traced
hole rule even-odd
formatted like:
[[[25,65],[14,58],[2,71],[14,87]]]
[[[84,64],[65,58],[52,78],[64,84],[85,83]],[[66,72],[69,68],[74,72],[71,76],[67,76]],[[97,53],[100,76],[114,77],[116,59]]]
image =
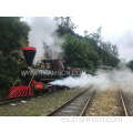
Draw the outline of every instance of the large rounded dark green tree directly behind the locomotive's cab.
[[[74,35],[65,34],[63,50],[64,60],[69,66],[92,72],[99,64],[96,51],[84,39],[79,40]]]

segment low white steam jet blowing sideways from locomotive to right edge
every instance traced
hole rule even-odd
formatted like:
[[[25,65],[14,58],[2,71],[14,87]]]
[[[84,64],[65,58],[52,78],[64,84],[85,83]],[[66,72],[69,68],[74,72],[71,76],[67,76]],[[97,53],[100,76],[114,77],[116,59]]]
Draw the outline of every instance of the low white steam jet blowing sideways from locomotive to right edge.
[[[111,73],[96,72],[95,75],[82,73],[79,78],[65,78],[63,80],[55,80],[50,84],[65,85],[69,88],[89,88],[93,85],[98,90],[109,89],[115,85],[117,89],[126,89],[131,91],[133,88],[133,73],[130,69],[114,70]]]

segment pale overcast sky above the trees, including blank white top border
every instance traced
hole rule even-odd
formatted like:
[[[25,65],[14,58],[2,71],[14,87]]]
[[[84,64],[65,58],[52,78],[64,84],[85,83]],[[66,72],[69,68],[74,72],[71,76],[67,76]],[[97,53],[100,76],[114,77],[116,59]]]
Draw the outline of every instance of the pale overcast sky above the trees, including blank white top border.
[[[75,32],[82,35],[84,30],[93,32],[101,25],[102,38],[117,44],[120,58],[133,59],[133,0],[3,0],[0,13],[73,17],[79,25]]]

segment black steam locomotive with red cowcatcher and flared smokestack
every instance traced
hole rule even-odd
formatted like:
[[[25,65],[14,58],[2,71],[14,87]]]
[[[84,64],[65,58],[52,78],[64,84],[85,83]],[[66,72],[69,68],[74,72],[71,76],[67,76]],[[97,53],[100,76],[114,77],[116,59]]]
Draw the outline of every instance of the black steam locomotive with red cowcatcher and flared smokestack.
[[[27,62],[27,66],[21,68],[19,78],[21,83],[18,86],[10,88],[10,94],[8,99],[19,96],[33,96],[34,92],[42,93],[43,90],[49,92],[55,91],[58,85],[51,85],[50,82],[66,76],[78,76],[81,71],[78,69],[71,69],[64,66],[64,62],[61,59],[44,59],[41,63],[32,65],[37,49],[33,47],[22,48],[23,55]]]

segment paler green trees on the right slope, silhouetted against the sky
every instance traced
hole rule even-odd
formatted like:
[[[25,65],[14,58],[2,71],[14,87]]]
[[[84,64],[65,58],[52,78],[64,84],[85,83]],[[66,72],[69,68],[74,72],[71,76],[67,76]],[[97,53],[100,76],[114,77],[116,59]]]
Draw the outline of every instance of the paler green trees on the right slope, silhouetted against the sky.
[[[101,38],[102,28],[98,28],[96,32],[85,35],[86,40],[93,47],[100,57],[100,64],[116,66],[119,60],[119,48],[110,41],[103,41]],[[86,31],[85,31],[86,32]]]

